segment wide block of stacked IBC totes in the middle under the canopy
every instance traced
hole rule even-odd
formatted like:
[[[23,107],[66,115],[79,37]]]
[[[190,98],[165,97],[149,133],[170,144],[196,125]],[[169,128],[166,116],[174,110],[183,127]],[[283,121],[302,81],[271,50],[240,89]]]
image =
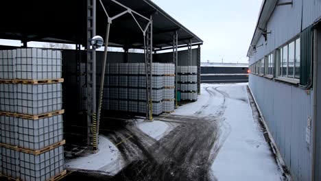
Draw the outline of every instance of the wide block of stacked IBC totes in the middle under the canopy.
[[[145,113],[147,110],[145,63],[107,64],[106,69],[106,91],[103,95],[102,108]],[[154,115],[174,110],[174,77],[169,75],[174,75],[174,64],[152,64],[152,112]]]

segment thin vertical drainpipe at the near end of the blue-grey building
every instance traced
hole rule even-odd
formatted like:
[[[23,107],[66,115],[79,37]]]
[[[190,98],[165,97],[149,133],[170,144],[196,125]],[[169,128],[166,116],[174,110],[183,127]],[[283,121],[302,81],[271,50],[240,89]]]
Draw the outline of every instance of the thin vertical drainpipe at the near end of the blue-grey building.
[[[313,29],[313,153],[312,153],[312,168],[311,168],[311,180],[315,180],[315,167],[316,167],[316,111],[317,111],[317,75],[318,75],[318,56],[317,56],[317,29]]]

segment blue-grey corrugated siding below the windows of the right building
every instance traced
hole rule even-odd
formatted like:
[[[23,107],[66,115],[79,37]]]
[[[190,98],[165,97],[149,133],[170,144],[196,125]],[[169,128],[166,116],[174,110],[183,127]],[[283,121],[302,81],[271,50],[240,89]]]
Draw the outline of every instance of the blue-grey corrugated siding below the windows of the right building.
[[[257,75],[249,76],[249,84],[294,180],[311,180],[312,145],[305,141],[305,128],[313,93]]]

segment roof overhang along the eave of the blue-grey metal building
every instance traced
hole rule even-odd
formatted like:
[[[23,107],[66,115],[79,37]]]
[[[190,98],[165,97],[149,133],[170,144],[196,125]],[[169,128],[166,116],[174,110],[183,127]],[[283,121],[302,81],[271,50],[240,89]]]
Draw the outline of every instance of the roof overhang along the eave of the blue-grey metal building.
[[[274,8],[276,7],[277,3],[278,0],[262,1],[261,9],[259,12],[259,19],[257,20],[257,26],[255,27],[247,56],[250,56],[252,54],[255,45],[257,45],[257,42],[259,41],[259,38],[262,36],[264,29],[266,29],[266,25],[268,24],[270,16],[274,12]]]

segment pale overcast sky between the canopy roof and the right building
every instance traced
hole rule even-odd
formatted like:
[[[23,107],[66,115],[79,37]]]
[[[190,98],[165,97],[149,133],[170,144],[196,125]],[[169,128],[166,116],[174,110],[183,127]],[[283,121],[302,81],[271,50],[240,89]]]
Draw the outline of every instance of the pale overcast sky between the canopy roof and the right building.
[[[153,0],[202,38],[202,61],[248,62],[261,0]]]

